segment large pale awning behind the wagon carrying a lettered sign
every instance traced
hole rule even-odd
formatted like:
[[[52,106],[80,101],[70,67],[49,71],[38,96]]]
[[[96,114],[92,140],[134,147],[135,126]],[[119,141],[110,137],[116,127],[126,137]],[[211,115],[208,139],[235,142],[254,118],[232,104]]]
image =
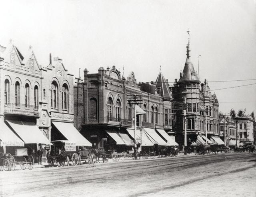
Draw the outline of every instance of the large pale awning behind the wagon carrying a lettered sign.
[[[66,137],[67,141],[62,140],[63,142],[76,143],[76,146],[92,146],[92,143],[79,133],[72,123],[55,121],[52,121],[52,123]]]

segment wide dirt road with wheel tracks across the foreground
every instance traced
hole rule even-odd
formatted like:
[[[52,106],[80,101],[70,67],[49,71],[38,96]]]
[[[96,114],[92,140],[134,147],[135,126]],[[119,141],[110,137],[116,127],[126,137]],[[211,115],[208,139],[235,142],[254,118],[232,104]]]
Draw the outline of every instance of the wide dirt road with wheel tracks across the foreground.
[[[0,172],[0,196],[256,196],[256,154]]]

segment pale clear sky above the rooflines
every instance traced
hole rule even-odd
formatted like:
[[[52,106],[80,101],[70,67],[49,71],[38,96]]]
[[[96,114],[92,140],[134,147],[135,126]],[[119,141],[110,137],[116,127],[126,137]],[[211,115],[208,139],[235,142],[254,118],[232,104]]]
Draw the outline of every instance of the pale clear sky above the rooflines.
[[[219,111],[256,113],[256,0],[22,0],[1,3],[0,45],[31,45],[42,67],[49,53],[76,77],[103,66],[155,81],[160,65],[173,84],[190,56],[209,81]],[[200,55],[199,59],[198,56]],[[251,80],[254,79],[254,80]],[[237,82],[213,82],[248,80]],[[254,84],[250,86],[242,86]],[[221,88],[230,88],[216,90]]]

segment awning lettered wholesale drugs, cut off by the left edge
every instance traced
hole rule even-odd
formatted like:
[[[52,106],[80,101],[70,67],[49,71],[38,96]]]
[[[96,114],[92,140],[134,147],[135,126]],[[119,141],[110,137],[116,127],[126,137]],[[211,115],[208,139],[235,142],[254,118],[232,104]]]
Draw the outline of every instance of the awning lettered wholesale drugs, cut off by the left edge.
[[[4,121],[0,121],[0,146],[24,146],[22,141]]]

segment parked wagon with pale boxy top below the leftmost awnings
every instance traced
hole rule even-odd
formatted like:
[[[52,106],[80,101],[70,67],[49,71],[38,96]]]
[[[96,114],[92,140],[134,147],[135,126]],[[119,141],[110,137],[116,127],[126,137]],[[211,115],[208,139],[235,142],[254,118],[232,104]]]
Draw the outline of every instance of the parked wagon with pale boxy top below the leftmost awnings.
[[[26,168],[32,170],[34,167],[34,158],[32,155],[28,155],[27,148],[15,149],[15,155],[8,158],[9,168],[14,171],[17,165],[20,165],[20,169]]]

